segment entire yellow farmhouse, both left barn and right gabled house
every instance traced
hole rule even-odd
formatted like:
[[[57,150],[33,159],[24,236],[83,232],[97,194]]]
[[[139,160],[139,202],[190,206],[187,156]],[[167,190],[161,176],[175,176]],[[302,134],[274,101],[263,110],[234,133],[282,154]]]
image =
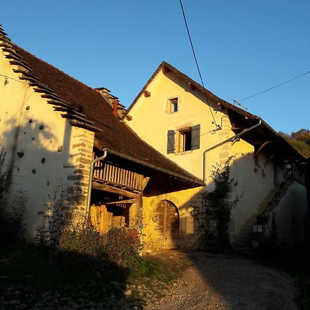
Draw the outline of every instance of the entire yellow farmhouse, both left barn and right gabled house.
[[[213,188],[212,166],[229,156],[238,180],[229,199],[243,194],[231,242],[265,226],[277,227],[278,242],[303,242],[306,191],[297,167],[304,158],[262,119],[165,62],[126,111],[109,90],[38,59],[2,28],[0,49],[4,197],[10,209],[24,196],[30,242],[56,212],[70,211],[102,234],[113,226],[140,229],[145,249],[198,247],[210,223],[194,214]]]

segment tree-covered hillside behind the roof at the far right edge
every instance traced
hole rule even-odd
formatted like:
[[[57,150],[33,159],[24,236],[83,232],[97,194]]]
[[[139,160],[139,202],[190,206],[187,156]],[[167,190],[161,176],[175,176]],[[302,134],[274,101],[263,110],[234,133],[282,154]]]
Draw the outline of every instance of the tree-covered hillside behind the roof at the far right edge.
[[[310,157],[310,130],[301,129],[297,132],[291,132],[291,134],[284,132],[279,132],[279,134],[298,149],[304,157]]]

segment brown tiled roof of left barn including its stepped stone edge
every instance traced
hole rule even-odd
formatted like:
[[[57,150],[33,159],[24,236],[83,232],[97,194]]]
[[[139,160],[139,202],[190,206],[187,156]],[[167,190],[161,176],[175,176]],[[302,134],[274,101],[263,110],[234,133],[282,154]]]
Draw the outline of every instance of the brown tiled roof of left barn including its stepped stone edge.
[[[72,119],[72,125],[93,130],[101,147],[136,158],[189,183],[203,185],[202,180],[157,152],[116,118],[110,103],[99,92],[19,48],[1,27],[0,48],[12,65],[19,65],[20,69],[15,71],[22,73],[21,79],[30,81],[34,90],[48,98],[55,110],[63,111],[63,117]]]

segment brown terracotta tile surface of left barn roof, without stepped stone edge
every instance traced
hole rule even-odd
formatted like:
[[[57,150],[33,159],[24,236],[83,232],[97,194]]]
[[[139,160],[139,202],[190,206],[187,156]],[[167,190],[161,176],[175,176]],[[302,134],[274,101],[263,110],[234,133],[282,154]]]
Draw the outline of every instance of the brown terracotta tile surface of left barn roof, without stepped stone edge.
[[[59,96],[77,113],[82,113],[90,121],[94,128],[95,137],[102,147],[113,149],[127,156],[132,156],[140,161],[149,163],[156,167],[167,169],[177,174],[183,180],[192,180],[196,185],[202,185],[202,180],[196,178],[189,172],[170,161],[157,152],[153,147],[139,138],[125,123],[122,123],[112,114],[110,103],[108,103],[99,92],[80,81],[65,74],[53,65],[37,58],[29,52],[14,45],[18,54],[31,69],[31,74],[39,79],[48,89]]]

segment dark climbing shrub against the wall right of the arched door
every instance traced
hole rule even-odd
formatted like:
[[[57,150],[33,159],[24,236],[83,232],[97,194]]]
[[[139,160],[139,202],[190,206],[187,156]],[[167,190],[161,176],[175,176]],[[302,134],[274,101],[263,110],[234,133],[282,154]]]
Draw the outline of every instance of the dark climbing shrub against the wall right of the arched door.
[[[229,156],[224,165],[217,163],[213,166],[211,179],[214,181],[214,190],[203,194],[203,247],[229,247],[231,210],[243,196],[240,194],[234,200],[229,200],[229,194],[238,187],[238,180],[230,178],[230,165],[235,157]]]

